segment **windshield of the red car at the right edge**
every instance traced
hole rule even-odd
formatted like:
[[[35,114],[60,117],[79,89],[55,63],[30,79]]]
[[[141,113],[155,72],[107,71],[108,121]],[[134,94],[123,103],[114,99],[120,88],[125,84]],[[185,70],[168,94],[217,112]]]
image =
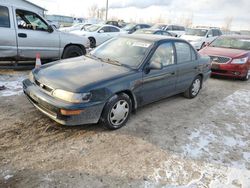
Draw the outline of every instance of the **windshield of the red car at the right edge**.
[[[219,48],[250,50],[250,38],[220,37],[213,41],[210,46]]]

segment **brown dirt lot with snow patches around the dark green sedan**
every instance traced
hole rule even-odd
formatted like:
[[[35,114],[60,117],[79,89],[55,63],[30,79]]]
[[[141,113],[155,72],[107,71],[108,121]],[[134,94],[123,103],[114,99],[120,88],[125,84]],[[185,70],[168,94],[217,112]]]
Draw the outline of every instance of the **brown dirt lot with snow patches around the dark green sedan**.
[[[26,100],[27,72],[0,72],[0,187],[250,187],[250,81],[148,105],[116,131],[65,127]]]

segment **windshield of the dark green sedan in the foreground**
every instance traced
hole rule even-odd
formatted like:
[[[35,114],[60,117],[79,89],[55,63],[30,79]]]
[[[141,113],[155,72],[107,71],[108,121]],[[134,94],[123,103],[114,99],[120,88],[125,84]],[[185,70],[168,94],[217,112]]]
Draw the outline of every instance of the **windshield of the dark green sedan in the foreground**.
[[[107,63],[115,62],[135,69],[142,63],[151,45],[152,42],[146,40],[113,38],[90,52],[90,55]]]

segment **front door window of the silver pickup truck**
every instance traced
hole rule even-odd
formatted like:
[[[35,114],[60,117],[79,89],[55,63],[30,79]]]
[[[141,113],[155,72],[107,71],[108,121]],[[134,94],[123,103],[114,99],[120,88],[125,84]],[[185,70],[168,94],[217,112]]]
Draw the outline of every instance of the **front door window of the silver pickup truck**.
[[[16,19],[18,29],[48,31],[48,25],[33,12],[17,9]]]

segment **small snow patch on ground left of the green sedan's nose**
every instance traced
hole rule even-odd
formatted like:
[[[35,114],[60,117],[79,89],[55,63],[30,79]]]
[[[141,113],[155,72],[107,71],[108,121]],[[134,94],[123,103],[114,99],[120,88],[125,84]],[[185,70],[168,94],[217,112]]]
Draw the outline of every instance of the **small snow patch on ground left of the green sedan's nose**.
[[[0,97],[21,95],[23,93],[22,81],[25,78],[27,78],[27,75],[24,73],[0,74],[0,86],[6,87],[4,90],[0,90]]]

